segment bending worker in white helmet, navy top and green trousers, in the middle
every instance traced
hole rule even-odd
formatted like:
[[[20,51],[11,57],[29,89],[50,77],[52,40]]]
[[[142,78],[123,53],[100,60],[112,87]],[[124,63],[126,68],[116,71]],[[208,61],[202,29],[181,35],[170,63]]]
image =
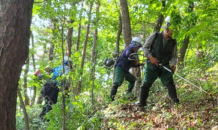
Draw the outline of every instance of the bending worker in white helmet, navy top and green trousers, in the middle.
[[[113,87],[111,89],[111,99],[114,101],[114,97],[117,93],[117,89],[122,85],[124,79],[129,82],[127,93],[131,93],[136,78],[129,72],[131,67],[139,67],[144,64],[139,64],[136,60],[129,59],[130,55],[133,53],[137,53],[139,48],[142,47],[142,40],[139,37],[133,38],[131,44],[126,47],[126,49],[122,52],[121,56],[117,64],[115,65],[115,79],[113,82]]]

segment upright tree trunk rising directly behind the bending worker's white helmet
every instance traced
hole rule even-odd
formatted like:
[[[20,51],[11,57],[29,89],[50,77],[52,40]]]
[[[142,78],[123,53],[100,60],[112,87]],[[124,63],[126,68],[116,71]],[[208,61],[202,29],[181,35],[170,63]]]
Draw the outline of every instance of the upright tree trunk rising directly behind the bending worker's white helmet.
[[[130,25],[130,17],[129,17],[129,9],[127,5],[127,0],[120,0],[120,9],[121,9],[121,18],[122,18],[123,38],[125,41],[125,46],[127,47],[132,41],[131,25]]]

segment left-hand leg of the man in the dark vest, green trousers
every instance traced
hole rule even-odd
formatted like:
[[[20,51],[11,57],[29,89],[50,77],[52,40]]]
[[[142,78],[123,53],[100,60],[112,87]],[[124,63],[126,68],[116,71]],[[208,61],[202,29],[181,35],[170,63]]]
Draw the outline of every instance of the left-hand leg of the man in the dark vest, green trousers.
[[[144,73],[144,80],[141,85],[141,91],[140,91],[140,107],[144,109],[144,106],[146,106],[146,100],[149,95],[149,89],[152,86],[153,82],[157,79],[158,77],[158,70],[151,70],[149,67],[145,68],[145,73]]]

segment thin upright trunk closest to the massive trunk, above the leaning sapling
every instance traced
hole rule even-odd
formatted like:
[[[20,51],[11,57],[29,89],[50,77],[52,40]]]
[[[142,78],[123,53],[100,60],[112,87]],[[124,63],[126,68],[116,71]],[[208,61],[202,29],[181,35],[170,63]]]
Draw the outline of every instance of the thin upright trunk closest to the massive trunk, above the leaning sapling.
[[[25,105],[29,105],[29,97],[27,95],[27,73],[29,72],[29,58],[26,60],[26,69],[24,71],[24,78],[23,78],[23,88],[24,88],[24,97],[25,97]]]

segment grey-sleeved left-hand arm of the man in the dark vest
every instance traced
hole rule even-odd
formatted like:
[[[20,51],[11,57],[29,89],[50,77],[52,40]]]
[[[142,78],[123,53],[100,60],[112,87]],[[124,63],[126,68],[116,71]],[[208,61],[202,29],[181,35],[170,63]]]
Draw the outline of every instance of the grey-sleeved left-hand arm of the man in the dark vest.
[[[142,50],[144,52],[144,55],[149,58],[151,56],[151,52],[149,52],[149,49],[151,48],[151,45],[156,37],[157,32],[152,33],[149,37],[146,38],[145,44],[142,47]]]

